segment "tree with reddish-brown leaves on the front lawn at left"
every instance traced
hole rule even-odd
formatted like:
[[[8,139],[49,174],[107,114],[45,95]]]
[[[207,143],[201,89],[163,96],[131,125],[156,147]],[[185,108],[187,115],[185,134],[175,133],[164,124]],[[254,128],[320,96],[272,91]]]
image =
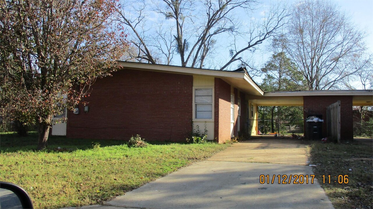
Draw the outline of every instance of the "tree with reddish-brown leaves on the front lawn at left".
[[[1,112],[36,123],[38,149],[53,116],[87,96],[127,45],[110,18],[115,8],[111,0],[1,0]]]

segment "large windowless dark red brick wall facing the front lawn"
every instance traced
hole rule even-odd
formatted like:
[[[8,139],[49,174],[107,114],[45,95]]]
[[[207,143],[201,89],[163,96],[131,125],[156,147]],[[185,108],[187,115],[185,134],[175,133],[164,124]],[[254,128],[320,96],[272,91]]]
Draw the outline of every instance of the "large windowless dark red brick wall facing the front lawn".
[[[89,112],[68,112],[68,137],[185,141],[192,130],[192,75],[123,69],[98,79]]]

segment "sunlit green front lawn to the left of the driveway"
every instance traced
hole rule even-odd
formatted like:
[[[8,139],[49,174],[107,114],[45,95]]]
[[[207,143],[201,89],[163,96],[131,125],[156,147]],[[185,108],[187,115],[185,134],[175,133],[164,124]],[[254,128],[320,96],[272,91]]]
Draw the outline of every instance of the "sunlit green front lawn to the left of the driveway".
[[[34,151],[35,133],[1,134],[0,140],[0,180],[23,187],[35,208],[102,203],[228,146],[169,143],[128,148],[123,141],[52,136],[50,150]],[[73,150],[53,151],[57,147]]]

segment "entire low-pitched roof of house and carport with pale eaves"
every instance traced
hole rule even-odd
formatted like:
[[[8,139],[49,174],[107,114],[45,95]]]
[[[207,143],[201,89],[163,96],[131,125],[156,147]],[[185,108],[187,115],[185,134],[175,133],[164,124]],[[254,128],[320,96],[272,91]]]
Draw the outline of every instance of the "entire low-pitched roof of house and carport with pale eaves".
[[[174,65],[148,64],[118,61],[117,66],[127,69],[158,71],[187,75],[203,75],[222,78],[227,83],[250,95],[250,100],[258,106],[303,106],[303,96],[351,95],[354,106],[372,106],[373,90],[314,90],[264,92],[250,77],[246,68],[234,71],[211,70],[204,68],[180,67]]]

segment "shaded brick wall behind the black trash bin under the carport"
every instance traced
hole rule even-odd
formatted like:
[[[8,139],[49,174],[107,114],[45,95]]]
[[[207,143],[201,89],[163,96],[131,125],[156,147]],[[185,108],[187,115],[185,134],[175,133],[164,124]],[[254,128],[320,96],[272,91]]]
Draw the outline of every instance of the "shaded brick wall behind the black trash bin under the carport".
[[[352,96],[303,96],[304,118],[312,113],[322,115],[323,136],[327,136],[326,108],[338,100],[341,101],[341,140],[352,140]]]

